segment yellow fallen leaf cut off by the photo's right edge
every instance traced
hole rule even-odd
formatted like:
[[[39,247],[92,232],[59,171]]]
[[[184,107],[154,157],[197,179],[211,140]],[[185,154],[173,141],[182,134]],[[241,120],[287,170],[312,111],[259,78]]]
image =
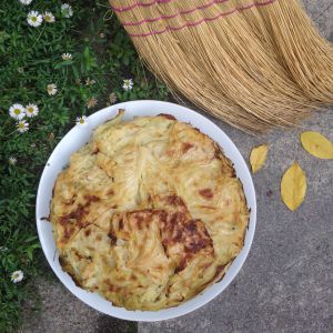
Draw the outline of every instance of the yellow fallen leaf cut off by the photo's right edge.
[[[333,144],[319,132],[304,132],[301,134],[304,149],[319,159],[333,159]]]

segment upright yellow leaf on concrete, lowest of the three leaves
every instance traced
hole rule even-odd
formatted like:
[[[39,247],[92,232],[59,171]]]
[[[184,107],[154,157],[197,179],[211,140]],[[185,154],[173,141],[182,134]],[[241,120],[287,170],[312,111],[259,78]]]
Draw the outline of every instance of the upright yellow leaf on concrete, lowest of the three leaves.
[[[297,162],[294,162],[284,173],[281,181],[281,196],[285,205],[295,211],[304,201],[306,194],[306,176]]]

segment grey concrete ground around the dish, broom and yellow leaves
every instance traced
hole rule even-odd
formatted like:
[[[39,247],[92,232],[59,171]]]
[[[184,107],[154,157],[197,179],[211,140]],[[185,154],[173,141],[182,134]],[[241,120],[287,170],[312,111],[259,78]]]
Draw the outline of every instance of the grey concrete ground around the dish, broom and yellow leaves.
[[[333,41],[332,0],[303,0],[322,33]],[[252,138],[216,122],[248,160],[270,143],[265,168],[254,176],[259,218],[250,255],[233,283],[209,305],[178,320],[140,323],[139,332],[332,332],[333,162],[301,148],[302,129]],[[333,109],[304,123],[333,140]],[[297,160],[307,175],[307,196],[291,213],[280,200],[284,170]],[[22,332],[137,332],[133,323],[98,313],[56,279],[36,282],[41,311],[26,310]]]

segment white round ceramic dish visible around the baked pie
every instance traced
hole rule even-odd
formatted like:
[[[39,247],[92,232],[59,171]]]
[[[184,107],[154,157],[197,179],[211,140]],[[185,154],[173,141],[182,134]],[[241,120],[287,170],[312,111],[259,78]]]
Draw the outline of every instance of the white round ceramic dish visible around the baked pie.
[[[94,128],[115,117],[119,109],[125,109],[124,120],[130,120],[138,115],[142,117],[169,113],[180,121],[191,123],[194,128],[200,129],[201,132],[212,138],[220,144],[225,155],[234,163],[236,174],[244,186],[248,206],[251,209],[250,224],[245,236],[244,248],[234,260],[222,281],[214,283],[201,294],[176,307],[161,310],[158,312],[128,311],[123,307],[113,306],[110,302],[95,293],[90,293],[75,286],[72,279],[62,271],[59,264],[51,223],[43,219],[44,216],[48,216],[50,212],[50,200],[52,198],[53,184],[59,172],[69,163],[70,155],[89,141]],[[184,107],[160,101],[133,101],[112,105],[95,112],[89,117],[87,127],[75,127],[70,130],[67,135],[64,135],[52,152],[43,170],[37,194],[36,216],[39,239],[52,270],[60,281],[77,297],[93,309],[115,317],[130,321],[161,321],[176,317],[201,307],[218,296],[235,278],[241,270],[252,244],[256,221],[256,201],[251,173],[249,172],[245,161],[233,142],[219,127],[205,117]]]

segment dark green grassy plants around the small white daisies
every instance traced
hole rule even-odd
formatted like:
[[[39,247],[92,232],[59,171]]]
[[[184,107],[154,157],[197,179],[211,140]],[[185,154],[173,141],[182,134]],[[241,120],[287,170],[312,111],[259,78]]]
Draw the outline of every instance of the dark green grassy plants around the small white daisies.
[[[33,293],[36,276],[44,274],[34,201],[57,143],[77,117],[114,103],[115,98],[121,102],[168,97],[165,87],[142,67],[107,0],[71,1],[70,18],[61,4],[0,2],[0,332],[21,325],[22,303]],[[31,10],[50,11],[56,21],[30,27]],[[63,53],[71,53],[71,59],[63,60]],[[125,79],[133,80],[131,90],[123,89]],[[54,95],[47,91],[51,83],[58,89]],[[24,133],[9,115],[14,103],[39,108],[37,117],[24,118]],[[11,274],[18,270],[24,279],[13,283]]]

